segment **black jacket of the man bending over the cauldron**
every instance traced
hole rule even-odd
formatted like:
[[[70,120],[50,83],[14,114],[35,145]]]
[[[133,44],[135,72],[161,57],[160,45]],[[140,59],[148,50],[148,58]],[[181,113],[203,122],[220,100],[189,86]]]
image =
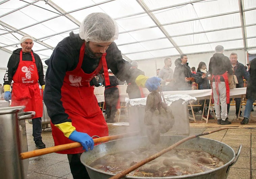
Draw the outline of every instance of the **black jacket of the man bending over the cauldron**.
[[[76,68],[79,61],[80,48],[84,42],[79,37],[79,34],[71,32],[68,37],[57,44],[50,59],[46,60],[48,69],[46,72],[44,102],[53,124],[71,122],[60,100],[61,87],[66,72]],[[107,67],[111,69],[118,79],[121,81],[128,79],[133,81],[136,79],[138,75],[131,73],[131,65],[122,58],[121,51],[117,48],[116,43],[112,42],[106,53]],[[100,58],[91,58],[85,53],[81,68],[85,73],[92,73],[98,67],[99,61]],[[103,68],[99,73],[103,73]]]

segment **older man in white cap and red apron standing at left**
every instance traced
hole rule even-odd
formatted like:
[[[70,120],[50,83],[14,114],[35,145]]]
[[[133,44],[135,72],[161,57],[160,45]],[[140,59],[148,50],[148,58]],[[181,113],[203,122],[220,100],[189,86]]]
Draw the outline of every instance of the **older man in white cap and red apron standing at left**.
[[[32,119],[33,137],[37,148],[45,148],[42,142],[43,101],[39,85],[45,87],[42,61],[33,52],[33,38],[25,35],[20,40],[21,47],[13,51],[7,64],[4,76],[4,99],[11,99],[11,106],[26,106],[24,111],[35,111]],[[12,91],[10,93],[10,84]]]

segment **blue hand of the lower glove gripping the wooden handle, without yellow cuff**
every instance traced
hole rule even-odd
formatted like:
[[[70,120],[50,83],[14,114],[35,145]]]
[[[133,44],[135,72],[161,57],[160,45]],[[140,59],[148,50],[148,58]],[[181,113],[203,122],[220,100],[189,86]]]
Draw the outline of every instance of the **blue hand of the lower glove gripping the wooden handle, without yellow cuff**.
[[[93,150],[93,138],[91,138],[87,133],[78,132],[74,130],[74,132],[72,132],[69,136],[69,139],[72,141],[80,142],[83,146],[83,150],[86,150],[86,152],[88,151],[88,148]]]

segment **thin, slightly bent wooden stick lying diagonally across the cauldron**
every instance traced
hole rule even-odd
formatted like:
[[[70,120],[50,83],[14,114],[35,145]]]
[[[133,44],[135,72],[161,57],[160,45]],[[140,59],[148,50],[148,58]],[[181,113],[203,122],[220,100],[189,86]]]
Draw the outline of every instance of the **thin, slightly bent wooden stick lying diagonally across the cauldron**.
[[[213,131],[210,131],[210,132],[205,132],[205,133],[200,133],[200,134],[196,134],[196,135],[193,135],[193,136],[188,136],[182,140],[180,140],[179,142],[176,142],[175,144],[171,145],[170,147],[168,148],[165,148],[163,150],[161,150],[160,152],[158,153],[155,153],[154,155],[136,163],[135,165],[129,167],[128,169],[110,177],[109,179],[119,179],[119,178],[122,178],[123,176],[127,175],[128,173],[132,172],[133,170],[139,168],[140,166],[143,166],[144,164],[150,162],[151,160],[154,160],[155,158],[161,156],[162,154],[172,150],[173,148],[177,147],[178,145],[182,144],[183,142],[185,141],[188,141],[189,139],[193,139],[193,138],[196,138],[196,137],[199,137],[199,136],[205,136],[205,135],[208,135],[210,133],[213,133],[213,132],[217,132],[217,131],[220,131],[220,130],[224,130],[224,129],[228,129],[228,127],[225,127],[225,128],[221,128],[221,129],[217,129],[217,130],[213,130]]]

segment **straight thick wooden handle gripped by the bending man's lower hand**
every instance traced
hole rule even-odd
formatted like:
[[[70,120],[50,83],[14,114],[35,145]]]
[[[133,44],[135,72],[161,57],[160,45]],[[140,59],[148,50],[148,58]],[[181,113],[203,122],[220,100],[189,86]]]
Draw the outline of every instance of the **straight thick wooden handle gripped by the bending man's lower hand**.
[[[108,141],[111,141],[111,140],[136,136],[136,135],[138,135],[138,133],[139,132],[130,132],[130,133],[123,133],[123,134],[119,134],[119,135],[100,137],[100,138],[94,139],[93,141],[94,141],[94,144],[101,143],[101,142],[108,142]],[[62,150],[73,149],[73,148],[77,148],[77,147],[81,147],[81,146],[82,145],[79,142],[57,145],[57,146],[54,146],[54,147],[48,147],[48,148],[44,148],[44,149],[33,150],[33,151],[29,151],[29,152],[23,152],[23,153],[20,154],[20,158],[21,159],[27,159],[27,158],[36,157],[36,156],[49,154],[49,153],[53,153],[53,152],[58,152],[58,151],[62,151]]]

